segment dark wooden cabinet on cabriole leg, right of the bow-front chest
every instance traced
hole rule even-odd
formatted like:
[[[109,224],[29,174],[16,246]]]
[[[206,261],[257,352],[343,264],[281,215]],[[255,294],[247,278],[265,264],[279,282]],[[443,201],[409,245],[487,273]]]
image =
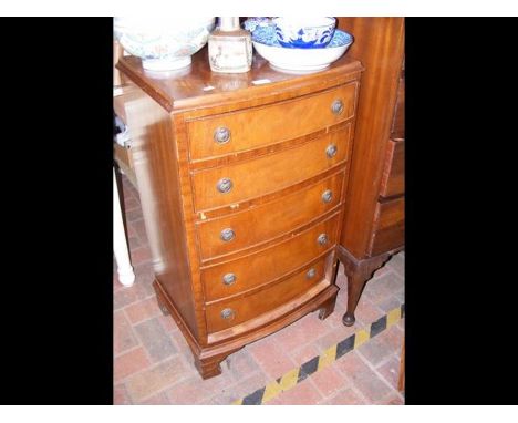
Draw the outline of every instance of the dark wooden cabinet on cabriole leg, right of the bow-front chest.
[[[365,282],[404,247],[404,19],[339,18],[365,66],[345,204],[340,260],[348,276],[346,326]]]

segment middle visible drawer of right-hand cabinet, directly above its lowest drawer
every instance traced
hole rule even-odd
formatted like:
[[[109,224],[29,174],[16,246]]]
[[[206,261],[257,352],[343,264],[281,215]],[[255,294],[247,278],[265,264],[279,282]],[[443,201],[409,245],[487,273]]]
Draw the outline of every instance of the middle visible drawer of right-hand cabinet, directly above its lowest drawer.
[[[405,192],[405,142],[388,140],[380,195],[392,197]]]

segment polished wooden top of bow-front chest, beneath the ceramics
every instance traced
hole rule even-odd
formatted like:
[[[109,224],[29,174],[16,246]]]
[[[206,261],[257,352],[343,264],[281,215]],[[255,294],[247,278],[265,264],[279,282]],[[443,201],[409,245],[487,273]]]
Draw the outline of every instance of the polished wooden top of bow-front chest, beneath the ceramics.
[[[215,73],[210,71],[206,48],[193,56],[188,68],[178,71],[151,72],[135,56],[121,58],[117,69],[169,112],[246,101],[297,85],[321,83],[324,90],[345,82],[348,75],[354,79],[363,71],[359,61],[344,55],[319,72],[289,73],[272,69],[267,60],[255,54],[249,72]]]

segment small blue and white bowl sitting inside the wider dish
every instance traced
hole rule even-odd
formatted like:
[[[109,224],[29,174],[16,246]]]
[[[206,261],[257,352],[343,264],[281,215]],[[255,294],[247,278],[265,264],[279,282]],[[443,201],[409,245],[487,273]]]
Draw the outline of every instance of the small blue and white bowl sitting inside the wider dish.
[[[279,44],[296,49],[323,49],[334,34],[336,19],[325,18],[276,18],[276,34]]]

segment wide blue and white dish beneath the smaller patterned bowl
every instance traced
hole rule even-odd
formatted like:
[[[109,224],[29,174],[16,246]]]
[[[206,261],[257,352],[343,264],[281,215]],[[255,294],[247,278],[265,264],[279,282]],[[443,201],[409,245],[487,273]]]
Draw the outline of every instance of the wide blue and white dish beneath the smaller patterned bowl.
[[[350,33],[335,30],[325,48],[286,49],[269,28],[257,28],[252,33],[252,44],[260,55],[274,68],[294,72],[314,72],[328,68],[348,51],[352,42]]]

